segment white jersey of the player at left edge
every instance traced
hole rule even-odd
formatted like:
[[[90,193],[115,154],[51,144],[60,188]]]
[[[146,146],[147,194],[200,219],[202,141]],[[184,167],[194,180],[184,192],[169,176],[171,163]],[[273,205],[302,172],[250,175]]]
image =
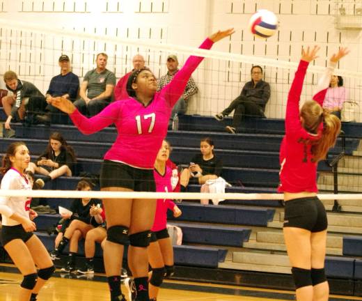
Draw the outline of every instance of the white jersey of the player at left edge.
[[[6,171],[1,180],[1,190],[31,190],[31,184],[16,169]],[[31,197],[26,196],[0,196],[0,213],[3,217],[4,226],[15,226],[19,222],[6,216],[9,209],[29,219]],[[6,211],[3,209],[7,209]],[[11,215],[13,215],[13,213]]]

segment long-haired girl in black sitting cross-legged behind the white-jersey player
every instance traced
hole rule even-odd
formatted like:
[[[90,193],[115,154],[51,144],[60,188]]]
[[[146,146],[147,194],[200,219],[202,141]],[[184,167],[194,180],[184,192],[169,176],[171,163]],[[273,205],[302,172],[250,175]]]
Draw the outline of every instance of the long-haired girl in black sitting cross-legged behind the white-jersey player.
[[[54,180],[60,176],[72,176],[76,157],[72,146],[59,132],[53,132],[49,137],[49,144],[36,163],[30,162],[27,170],[45,175],[43,182]],[[36,182],[41,182],[40,179]],[[41,183],[38,183],[41,185]],[[43,185],[44,186],[44,185]]]

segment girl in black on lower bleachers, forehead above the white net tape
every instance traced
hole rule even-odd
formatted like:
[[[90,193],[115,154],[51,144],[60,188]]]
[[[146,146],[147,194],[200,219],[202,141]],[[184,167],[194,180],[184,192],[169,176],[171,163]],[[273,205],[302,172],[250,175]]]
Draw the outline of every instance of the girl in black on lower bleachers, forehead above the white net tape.
[[[92,183],[82,179],[77,184],[78,191],[92,190]],[[52,252],[52,259],[59,258],[65,247],[70,243],[68,261],[61,269],[62,272],[73,272],[75,268],[75,256],[78,252],[78,242],[85,238],[88,231],[101,226],[104,223],[104,210],[101,208],[100,200],[96,199],[75,199],[70,207],[71,214],[63,214],[64,219],[62,230],[63,236],[57,247]],[[58,239],[61,234],[58,234]]]

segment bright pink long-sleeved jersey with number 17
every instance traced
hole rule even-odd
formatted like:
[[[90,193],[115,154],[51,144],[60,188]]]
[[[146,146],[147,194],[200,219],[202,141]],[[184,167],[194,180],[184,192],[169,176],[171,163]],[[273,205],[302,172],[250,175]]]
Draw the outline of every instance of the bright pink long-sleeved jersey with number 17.
[[[207,38],[200,48],[210,49],[212,44],[212,40]],[[123,101],[112,102],[92,118],[86,118],[77,109],[70,118],[84,134],[93,134],[114,123],[118,136],[104,159],[141,169],[153,169],[162,140],[167,134],[171,110],[201,61],[203,57],[190,56],[173,80],[155,93],[147,107],[129,97]]]

